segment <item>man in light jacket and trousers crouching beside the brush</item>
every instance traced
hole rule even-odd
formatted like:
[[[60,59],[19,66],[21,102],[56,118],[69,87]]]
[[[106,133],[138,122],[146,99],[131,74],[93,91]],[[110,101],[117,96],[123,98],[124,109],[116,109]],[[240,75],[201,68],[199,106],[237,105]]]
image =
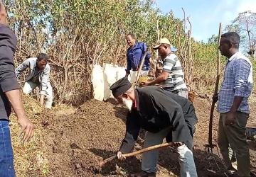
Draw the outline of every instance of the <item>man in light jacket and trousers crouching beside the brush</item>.
[[[53,88],[50,85],[50,65],[48,64],[48,56],[39,54],[38,57],[26,59],[16,69],[16,77],[18,78],[26,68],[29,68],[26,82],[23,86],[23,93],[29,94],[38,86],[40,88],[40,103],[43,105],[46,96],[46,108],[51,108],[53,103]]]

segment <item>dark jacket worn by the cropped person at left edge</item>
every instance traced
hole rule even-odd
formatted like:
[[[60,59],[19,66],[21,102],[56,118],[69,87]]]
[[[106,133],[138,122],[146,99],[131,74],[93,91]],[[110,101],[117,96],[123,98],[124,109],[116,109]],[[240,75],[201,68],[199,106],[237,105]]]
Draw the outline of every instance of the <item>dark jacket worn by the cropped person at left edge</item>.
[[[17,38],[6,25],[0,24],[0,119],[9,120],[11,105],[5,92],[20,89],[15,76],[14,52]]]

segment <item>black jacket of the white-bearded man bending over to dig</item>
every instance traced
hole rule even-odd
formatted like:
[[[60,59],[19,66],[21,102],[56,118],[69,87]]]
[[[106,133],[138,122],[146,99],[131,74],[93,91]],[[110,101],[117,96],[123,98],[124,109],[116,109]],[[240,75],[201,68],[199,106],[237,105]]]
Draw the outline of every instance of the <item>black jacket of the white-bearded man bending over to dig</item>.
[[[132,151],[141,128],[156,133],[171,127],[166,142],[184,142],[192,148],[193,128],[198,118],[188,99],[159,86],[135,89],[135,99],[137,108],[132,108],[127,114],[126,134],[120,152]]]

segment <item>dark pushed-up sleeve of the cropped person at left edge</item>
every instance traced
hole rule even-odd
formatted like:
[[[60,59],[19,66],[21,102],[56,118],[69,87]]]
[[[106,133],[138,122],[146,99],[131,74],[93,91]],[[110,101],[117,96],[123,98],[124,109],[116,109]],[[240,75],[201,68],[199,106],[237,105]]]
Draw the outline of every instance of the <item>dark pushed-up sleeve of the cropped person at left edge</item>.
[[[3,92],[20,89],[14,67],[16,37],[5,25],[0,25],[0,86]]]

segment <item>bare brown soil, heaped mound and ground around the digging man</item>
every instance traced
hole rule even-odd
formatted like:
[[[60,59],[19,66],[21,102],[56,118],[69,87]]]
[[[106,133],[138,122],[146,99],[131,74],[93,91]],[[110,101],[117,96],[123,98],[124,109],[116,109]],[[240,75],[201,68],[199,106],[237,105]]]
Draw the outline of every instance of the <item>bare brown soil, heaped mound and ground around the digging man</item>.
[[[254,98],[256,97],[252,96],[250,99],[250,123],[256,122],[256,99]],[[210,154],[204,147],[204,144],[208,144],[210,101],[196,98],[194,105],[198,115],[198,126],[194,138],[194,156],[198,176],[225,172],[218,157],[217,148],[214,148],[213,154]],[[116,154],[119,149],[124,137],[126,113],[127,109],[117,105],[114,100],[87,101],[80,108],[62,106],[41,113],[38,115],[40,118],[33,120],[40,136],[36,135],[36,140],[33,140],[34,143],[37,142],[35,147],[32,149],[31,145],[26,147],[26,149],[31,149],[27,151],[31,157],[26,157],[30,165],[28,164],[27,169],[23,169],[22,176],[129,176],[140,171],[140,155],[127,158],[123,162],[113,160],[107,163],[101,171],[98,168],[102,159]],[[218,113],[215,113],[213,118],[214,143],[217,139],[217,125]],[[144,131],[139,137],[141,139],[138,140],[135,150],[143,147]],[[256,171],[256,144],[252,141],[248,142],[252,171]],[[18,147],[14,144],[16,157],[20,153]],[[33,149],[36,150],[33,152]],[[44,164],[43,167],[36,168],[35,164],[40,161]],[[16,169],[18,169],[18,163],[21,164],[19,159],[16,159]],[[18,172],[21,173],[21,169],[18,169]],[[171,148],[160,150],[157,175],[159,177],[179,176],[178,154]]]

